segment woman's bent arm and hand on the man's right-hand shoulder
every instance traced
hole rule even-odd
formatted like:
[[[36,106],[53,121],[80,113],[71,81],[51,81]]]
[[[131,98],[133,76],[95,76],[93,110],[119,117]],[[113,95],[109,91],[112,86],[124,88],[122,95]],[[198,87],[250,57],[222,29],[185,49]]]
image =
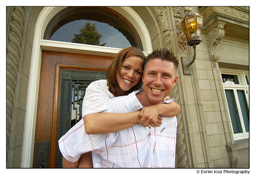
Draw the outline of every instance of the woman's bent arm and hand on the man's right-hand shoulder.
[[[168,99],[166,99],[168,100]],[[158,115],[174,117],[180,113],[180,106],[176,102],[160,103],[147,106],[141,110],[141,120],[138,122],[146,127],[148,124],[152,125],[157,122]]]

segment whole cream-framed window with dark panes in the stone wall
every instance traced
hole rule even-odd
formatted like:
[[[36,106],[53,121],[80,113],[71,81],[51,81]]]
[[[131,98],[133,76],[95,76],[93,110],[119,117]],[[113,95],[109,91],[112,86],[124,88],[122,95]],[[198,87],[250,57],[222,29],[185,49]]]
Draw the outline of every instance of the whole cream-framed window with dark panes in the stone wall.
[[[249,72],[221,69],[234,140],[249,138]]]

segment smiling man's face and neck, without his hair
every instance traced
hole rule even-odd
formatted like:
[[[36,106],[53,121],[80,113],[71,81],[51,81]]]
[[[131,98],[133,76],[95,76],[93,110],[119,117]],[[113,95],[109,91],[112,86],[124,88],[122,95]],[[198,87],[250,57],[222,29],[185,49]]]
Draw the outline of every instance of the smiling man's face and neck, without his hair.
[[[149,60],[142,75],[148,105],[158,104],[170,94],[178,80],[173,62]]]

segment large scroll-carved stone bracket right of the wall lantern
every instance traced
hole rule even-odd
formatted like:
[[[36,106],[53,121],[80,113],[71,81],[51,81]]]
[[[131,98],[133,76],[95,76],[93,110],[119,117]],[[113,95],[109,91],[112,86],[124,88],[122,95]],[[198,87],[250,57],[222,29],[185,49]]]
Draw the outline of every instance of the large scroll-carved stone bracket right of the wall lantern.
[[[216,62],[220,59],[219,55],[216,55],[216,47],[225,35],[223,29],[225,24],[225,22],[218,22],[215,28],[206,33],[206,43],[214,69],[216,69]]]

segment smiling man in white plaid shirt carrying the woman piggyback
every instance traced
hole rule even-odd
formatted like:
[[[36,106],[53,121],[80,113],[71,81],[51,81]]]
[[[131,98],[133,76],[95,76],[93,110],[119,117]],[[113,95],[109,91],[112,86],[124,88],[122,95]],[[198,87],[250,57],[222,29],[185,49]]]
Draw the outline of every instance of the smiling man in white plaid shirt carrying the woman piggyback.
[[[149,54],[142,75],[144,90],[108,101],[104,112],[128,113],[152,104],[169,103],[165,98],[175,86],[178,76],[178,59],[167,49]],[[120,110],[121,109],[121,110]],[[142,119],[142,124],[145,122]],[[143,127],[136,124],[124,130],[100,134],[84,134],[82,142],[70,143],[83,153],[93,151],[94,168],[174,168],[176,145],[176,117],[163,117],[161,127]],[[81,129],[82,126],[77,126]],[[68,136],[76,132],[68,133]],[[66,153],[59,140],[63,157],[76,161],[81,153]],[[82,144],[81,144],[82,143]]]

